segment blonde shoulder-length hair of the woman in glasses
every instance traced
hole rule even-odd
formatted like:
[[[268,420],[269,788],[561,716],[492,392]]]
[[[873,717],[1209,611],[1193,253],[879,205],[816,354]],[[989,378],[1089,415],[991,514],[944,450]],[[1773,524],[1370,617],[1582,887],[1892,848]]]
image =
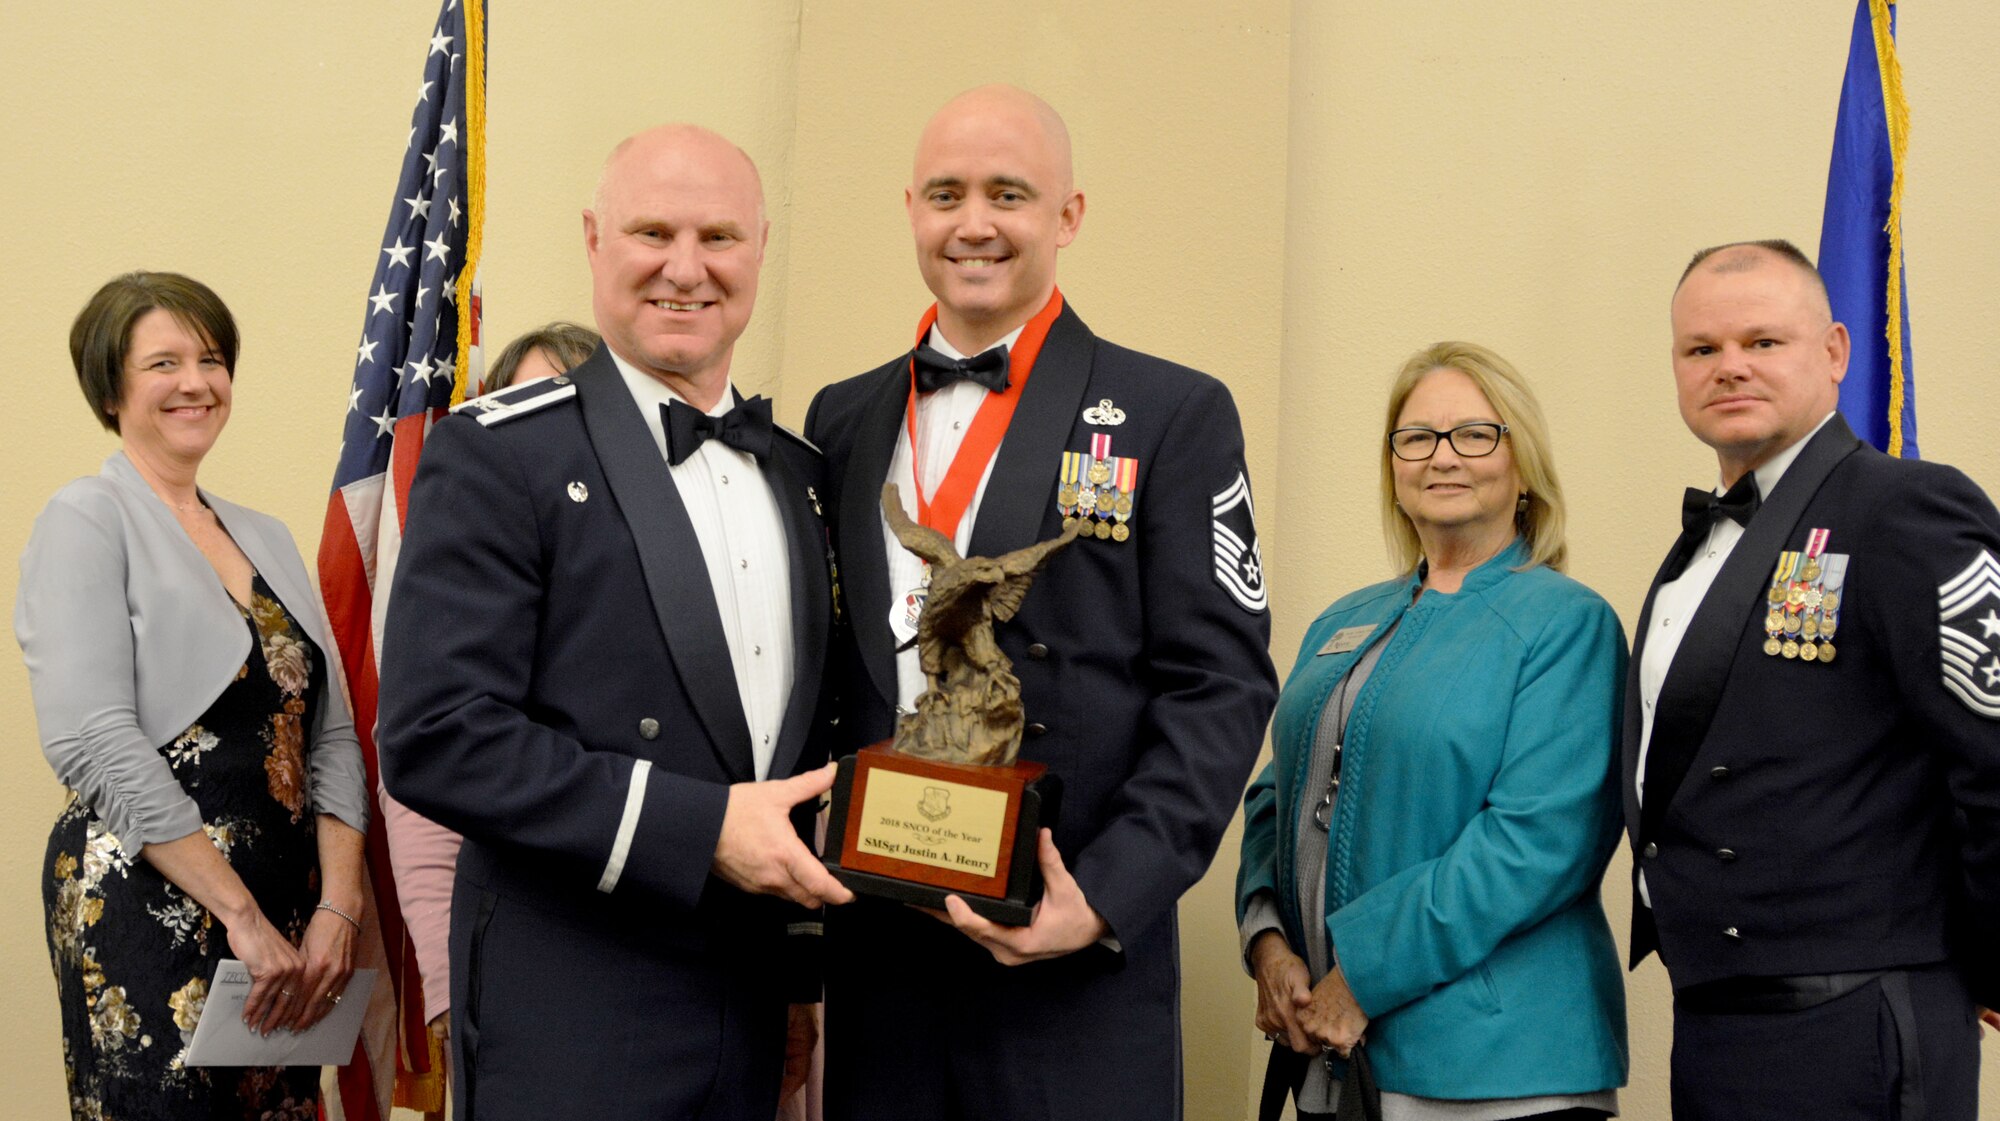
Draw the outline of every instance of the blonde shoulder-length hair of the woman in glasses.
[[[1396,382],[1388,390],[1388,416],[1382,422],[1382,532],[1396,571],[1414,573],[1424,558],[1424,544],[1410,516],[1396,504],[1396,460],[1388,450],[1388,434],[1396,428],[1396,416],[1402,414],[1418,382],[1434,370],[1466,374],[1500,414],[1500,422],[1508,428],[1514,470],[1528,498],[1528,508],[1514,512],[1514,528],[1528,542],[1528,563],[1522,569],[1548,565],[1560,573],[1570,546],[1564,536],[1562,482],[1556,480],[1556,462],[1548,446],[1548,420],[1520,370],[1478,342],[1424,346],[1396,370]]]

